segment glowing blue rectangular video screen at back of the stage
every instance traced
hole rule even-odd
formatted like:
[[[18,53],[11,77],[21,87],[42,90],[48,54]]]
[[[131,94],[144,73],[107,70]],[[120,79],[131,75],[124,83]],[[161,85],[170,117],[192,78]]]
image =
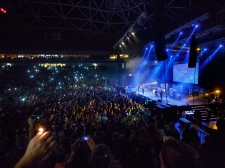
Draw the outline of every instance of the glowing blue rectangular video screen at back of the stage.
[[[188,68],[188,63],[173,65],[173,81],[198,84],[199,62],[196,68]]]

